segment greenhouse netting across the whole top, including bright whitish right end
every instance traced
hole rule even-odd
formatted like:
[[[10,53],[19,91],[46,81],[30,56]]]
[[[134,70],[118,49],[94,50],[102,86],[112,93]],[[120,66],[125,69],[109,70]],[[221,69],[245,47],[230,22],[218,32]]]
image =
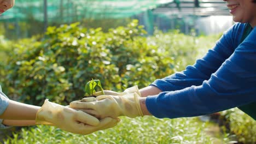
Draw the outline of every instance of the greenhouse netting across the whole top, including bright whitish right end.
[[[16,1],[15,7],[4,13],[4,19],[28,19],[43,21],[74,21],[80,19],[109,19],[130,17],[152,10],[157,14],[170,15],[228,15],[222,0],[24,0]]]

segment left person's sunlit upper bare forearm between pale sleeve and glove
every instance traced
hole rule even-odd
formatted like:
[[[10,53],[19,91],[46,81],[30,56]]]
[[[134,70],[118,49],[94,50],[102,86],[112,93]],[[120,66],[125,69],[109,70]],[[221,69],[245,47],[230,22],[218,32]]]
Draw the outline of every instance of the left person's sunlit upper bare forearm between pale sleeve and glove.
[[[35,120],[39,106],[28,105],[10,100],[7,109],[0,116],[1,119]]]

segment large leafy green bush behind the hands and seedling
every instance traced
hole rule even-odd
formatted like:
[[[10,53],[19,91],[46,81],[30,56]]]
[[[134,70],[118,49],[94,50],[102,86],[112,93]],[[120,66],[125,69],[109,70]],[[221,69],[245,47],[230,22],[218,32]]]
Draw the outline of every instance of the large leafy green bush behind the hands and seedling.
[[[104,89],[123,91],[148,86],[194,62],[193,37],[178,32],[144,34],[137,20],[107,33],[79,23],[49,27],[43,40],[24,39],[13,45],[4,69],[5,93],[28,104],[42,105],[48,98],[66,105],[83,97],[91,79],[101,80]]]

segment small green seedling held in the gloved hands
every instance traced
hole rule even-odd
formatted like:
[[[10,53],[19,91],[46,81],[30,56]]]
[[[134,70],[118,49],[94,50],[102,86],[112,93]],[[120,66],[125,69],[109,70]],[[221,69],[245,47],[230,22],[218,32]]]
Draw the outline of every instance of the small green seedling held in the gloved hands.
[[[101,94],[104,94],[103,88],[101,86],[100,80],[94,80],[87,82],[85,87],[85,97],[96,97],[94,94],[100,90]]]

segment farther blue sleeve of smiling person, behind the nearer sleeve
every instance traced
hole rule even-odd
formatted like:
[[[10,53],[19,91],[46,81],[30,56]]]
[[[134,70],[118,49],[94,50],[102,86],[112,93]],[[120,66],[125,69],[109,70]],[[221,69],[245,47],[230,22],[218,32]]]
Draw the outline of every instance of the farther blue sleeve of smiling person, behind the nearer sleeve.
[[[162,92],[177,91],[191,86],[201,86],[203,81],[209,80],[220,66],[228,59],[239,45],[244,24],[236,23],[217,41],[213,49],[198,59],[194,65],[179,72],[155,80],[151,86],[158,87]]]

